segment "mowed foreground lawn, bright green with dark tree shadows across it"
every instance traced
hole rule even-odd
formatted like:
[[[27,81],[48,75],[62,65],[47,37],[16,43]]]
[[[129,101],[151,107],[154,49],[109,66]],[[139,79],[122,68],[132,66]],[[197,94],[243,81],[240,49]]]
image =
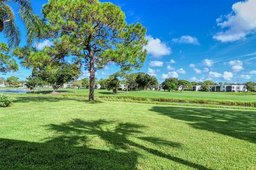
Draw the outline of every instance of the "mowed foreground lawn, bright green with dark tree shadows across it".
[[[0,169],[254,170],[256,112],[13,96]]]

